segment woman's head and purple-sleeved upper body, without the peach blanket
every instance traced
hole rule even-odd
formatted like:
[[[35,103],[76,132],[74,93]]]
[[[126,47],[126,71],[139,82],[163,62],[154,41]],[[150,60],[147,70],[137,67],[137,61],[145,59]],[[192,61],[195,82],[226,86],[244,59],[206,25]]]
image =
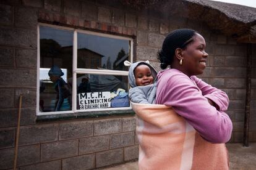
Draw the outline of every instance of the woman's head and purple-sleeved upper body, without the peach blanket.
[[[189,29],[173,31],[164,39],[158,59],[162,69],[171,68],[158,73],[156,103],[172,106],[206,140],[224,143],[232,130],[223,112],[228,108],[228,95],[195,76],[206,67],[205,47],[205,39]]]

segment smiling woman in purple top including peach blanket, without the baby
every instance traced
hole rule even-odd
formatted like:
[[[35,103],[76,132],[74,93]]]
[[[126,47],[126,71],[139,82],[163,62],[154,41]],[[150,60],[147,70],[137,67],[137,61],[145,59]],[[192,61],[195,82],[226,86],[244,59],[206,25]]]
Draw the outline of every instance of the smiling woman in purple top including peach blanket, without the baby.
[[[158,73],[156,105],[132,103],[140,169],[228,169],[228,96],[195,76],[206,67],[205,46],[189,29],[164,39],[158,59],[161,68],[171,68]]]

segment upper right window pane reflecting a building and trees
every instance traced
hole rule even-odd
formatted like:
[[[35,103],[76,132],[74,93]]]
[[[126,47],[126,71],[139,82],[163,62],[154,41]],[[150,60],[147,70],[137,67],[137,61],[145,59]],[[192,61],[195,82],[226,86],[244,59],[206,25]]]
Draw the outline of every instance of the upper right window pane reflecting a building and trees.
[[[77,68],[127,71],[129,40],[106,38],[91,34],[77,34]]]

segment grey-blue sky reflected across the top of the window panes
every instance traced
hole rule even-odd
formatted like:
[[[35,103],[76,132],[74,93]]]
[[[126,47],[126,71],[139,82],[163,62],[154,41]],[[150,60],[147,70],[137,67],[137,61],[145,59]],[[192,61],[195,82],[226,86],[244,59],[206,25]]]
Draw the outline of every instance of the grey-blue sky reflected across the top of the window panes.
[[[61,47],[73,46],[73,33],[74,31],[70,30],[40,26],[40,39],[53,39]],[[113,65],[121,49],[124,49],[126,54],[129,54],[129,40],[78,33],[77,41],[78,49],[86,48],[103,55],[104,57],[101,60],[102,65],[107,64],[108,57],[111,65]]]

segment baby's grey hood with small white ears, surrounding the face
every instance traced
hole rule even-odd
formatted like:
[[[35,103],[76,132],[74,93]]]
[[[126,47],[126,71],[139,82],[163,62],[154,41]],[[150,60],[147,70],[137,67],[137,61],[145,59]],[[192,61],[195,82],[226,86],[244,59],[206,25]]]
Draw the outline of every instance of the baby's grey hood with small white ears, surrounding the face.
[[[129,79],[130,87],[136,87],[137,86],[136,83],[135,83],[134,69],[137,67],[137,65],[139,63],[144,63],[145,65],[147,65],[150,68],[150,71],[151,71],[151,74],[154,78],[154,81],[156,80],[157,72],[156,72],[155,68],[153,68],[148,61],[147,62],[135,62],[135,63],[132,63],[130,65],[130,68],[129,68],[128,79]]]

